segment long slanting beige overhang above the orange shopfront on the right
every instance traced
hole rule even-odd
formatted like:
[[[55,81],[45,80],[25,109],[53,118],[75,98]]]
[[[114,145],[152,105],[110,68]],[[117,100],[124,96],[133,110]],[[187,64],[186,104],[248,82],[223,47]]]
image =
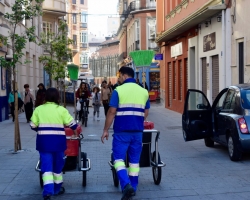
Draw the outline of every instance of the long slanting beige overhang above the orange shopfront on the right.
[[[219,4],[201,8],[201,10],[193,13],[191,16],[185,18],[172,28],[160,34],[155,41],[159,43],[173,39],[182,34],[183,32],[188,31],[190,28],[198,25],[201,22],[204,22],[208,18],[216,15],[217,13],[225,9],[226,9],[225,4]]]

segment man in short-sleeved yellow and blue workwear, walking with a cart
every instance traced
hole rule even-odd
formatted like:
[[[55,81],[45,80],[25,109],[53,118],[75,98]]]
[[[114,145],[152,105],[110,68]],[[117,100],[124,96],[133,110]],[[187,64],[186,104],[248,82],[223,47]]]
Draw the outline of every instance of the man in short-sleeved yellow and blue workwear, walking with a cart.
[[[102,143],[108,140],[109,132],[114,119],[113,134],[113,161],[122,189],[122,200],[130,199],[136,193],[138,185],[139,161],[142,151],[143,122],[148,116],[150,104],[147,90],[136,84],[134,70],[130,67],[121,67],[120,81],[110,100],[110,108],[106,117]],[[128,174],[125,165],[128,155]]]

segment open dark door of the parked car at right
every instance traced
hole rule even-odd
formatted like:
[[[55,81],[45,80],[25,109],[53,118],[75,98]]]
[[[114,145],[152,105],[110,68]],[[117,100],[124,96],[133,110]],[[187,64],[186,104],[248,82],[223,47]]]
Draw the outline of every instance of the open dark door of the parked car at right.
[[[182,130],[185,141],[212,137],[212,109],[200,90],[187,91],[182,114]]]

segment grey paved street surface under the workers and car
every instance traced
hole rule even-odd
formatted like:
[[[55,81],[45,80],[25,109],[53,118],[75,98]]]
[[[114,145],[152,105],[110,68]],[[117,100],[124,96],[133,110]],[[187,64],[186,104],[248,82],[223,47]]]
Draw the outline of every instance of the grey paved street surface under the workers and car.
[[[73,113],[72,107],[69,110]],[[121,198],[108,165],[112,137],[105,144],[100,142],[103,108],[101,113],[101,120],[93,121],[90,108],[89,125],[83,127],[82,151],[87,152],[92,164],[87,172],[87,186],[81,186],[80,172],[67,172],[64,175],[65,195],[52,199]],[[34,170],[38,160],[36,133],[30,130],[24,113],[19,118],[24,151],[18,154],[11,153],[14,145],[12,120],[0,123],[0,199],[42,200],[39,174]],[[221,145],[208,148],[203,140],[185,143],[181,115],[160,104],[151,105],[148,119],[161,131],[159,152],[166,167],[162,169],[160,185],[154,184],[151,168],[141,168],[138,192],[133,199],[250,199],[250,155],[244,155],[241,162],[232,162],[227,149]]]

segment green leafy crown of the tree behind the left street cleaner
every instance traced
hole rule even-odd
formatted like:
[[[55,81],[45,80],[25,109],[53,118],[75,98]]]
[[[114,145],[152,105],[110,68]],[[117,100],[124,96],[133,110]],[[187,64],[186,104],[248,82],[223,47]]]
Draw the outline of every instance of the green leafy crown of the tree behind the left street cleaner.
[[[58,33],[42,33],[40,44],[45,54],[39,57],[39,62],[49,74],[50,87],[52,79],[57,82],[58,86],[59,80],[66,77],[67,61],[72,58],[72,52],[68,46],[73,43],[73,40],[67,37],[67,32],[67,24],[60,20]]]

